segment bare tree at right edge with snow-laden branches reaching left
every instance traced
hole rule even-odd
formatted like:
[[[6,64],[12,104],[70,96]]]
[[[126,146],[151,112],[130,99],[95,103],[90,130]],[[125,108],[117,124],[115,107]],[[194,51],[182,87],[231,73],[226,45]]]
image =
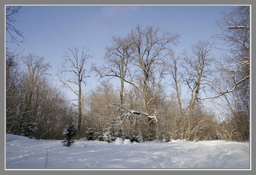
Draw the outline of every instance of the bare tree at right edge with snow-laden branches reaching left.
[[[225,72],[233,87],[215,91],[214,96],[202,99],[218,98],[235,89],[249,87],[250,78],[250,6],[239,6],[232,12],[223,12],[223,19],[217,21],[222,33],[214,37],[224,43],[215,43],[214,47],[223,51],[224,62],[220,61],[218,70]],[[221,45],[221,47],[219,46]],[[242,90],[243,91],[243,90]]]

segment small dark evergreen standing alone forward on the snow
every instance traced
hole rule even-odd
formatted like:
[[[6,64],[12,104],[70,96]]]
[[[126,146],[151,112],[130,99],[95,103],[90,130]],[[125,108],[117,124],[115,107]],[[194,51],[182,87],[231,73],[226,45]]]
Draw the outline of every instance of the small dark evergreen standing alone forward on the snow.
[[[63,129],[63,136],[65,137],[65,140],[62,141],[63,146],[70,147],[75,143],[74,137],[77,134],[77,124],[73,122],[73,120],[69,120],[66,122],[66,127]]]

